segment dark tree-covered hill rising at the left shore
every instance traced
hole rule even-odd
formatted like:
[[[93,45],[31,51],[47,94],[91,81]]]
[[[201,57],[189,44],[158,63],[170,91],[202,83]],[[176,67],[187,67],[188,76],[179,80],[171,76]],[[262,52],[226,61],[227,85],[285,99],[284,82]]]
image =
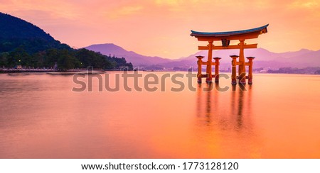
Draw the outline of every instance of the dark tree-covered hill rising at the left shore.
[[[92,66],[119,69],[132,64],[124,58],[110,57],[90,50],[75,50],[61,44],[32,23],[0,12],[0,68],[21,65],[25,68],[53,67],[68,70]]]

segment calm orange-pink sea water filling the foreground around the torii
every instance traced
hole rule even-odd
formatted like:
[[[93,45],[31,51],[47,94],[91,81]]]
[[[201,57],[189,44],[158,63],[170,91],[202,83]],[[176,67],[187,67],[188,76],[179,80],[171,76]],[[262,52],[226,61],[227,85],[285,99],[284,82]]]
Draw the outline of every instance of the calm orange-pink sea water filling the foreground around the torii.
[[[166,79],[166,91],[99,92],[97,81],[75,92],[72,75],[0,74],[0,157],[320,158],[320,76],[254,74],[247,91],[221,79],[223,92],[196,79],[196,91]]]

